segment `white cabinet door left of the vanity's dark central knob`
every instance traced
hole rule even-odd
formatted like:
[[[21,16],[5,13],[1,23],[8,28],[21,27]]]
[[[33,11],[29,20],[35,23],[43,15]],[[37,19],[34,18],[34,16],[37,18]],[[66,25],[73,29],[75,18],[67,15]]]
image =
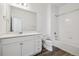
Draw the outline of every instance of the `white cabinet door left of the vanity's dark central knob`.
[[[3,45],[3,56],[21,56],[21,45],[19,43],[12,43]]]

